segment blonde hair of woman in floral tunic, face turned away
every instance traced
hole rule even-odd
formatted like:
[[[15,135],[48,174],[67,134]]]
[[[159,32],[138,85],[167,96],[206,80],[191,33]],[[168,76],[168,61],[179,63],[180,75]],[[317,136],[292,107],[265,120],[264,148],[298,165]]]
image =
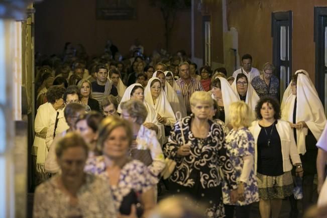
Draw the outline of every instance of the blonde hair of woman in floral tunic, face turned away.
[[[249,127],[253,120],[252,111],[248,104],[244,101],[236,101],[231,103],[230,123],[233,127]]]

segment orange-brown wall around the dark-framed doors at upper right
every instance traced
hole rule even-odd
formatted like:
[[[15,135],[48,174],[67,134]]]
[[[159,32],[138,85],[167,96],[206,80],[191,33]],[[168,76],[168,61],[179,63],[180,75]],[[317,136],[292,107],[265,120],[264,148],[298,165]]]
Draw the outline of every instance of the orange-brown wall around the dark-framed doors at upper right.
[[[314,7],[327,6],[323,0],[239,0],[227,1],[228,27],[238,31],[239,56],[250,53],[255,67],[272,62],[271,13],[293,12],[292,69],[306,69],[314,81]]]

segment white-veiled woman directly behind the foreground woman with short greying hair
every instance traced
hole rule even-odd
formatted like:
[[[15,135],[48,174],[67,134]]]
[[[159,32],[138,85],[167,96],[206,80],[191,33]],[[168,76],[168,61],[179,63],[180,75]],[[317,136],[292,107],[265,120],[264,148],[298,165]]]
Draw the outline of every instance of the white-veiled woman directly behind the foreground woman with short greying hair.
[[[165,129],[162,124],[157,120],[157,113],[154,108],[144,100],[144,88],[140,83],[134,83],[126,88],[120,104],[118,105],[117,112],[122,114],[121,103],[130,99],[141,100],[147,108],[148,116],[145,119],[144,126],[157,133],[159,142],[162,144],[164,141]]]

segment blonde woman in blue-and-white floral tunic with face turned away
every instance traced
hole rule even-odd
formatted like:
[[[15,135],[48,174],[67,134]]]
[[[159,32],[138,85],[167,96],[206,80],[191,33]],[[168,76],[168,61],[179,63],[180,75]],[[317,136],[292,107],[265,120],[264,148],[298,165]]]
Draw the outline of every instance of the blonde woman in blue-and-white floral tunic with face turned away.
[[[228,185],[223,186],[226,217],[250,217],[251,205],[259,201],[258,185],[254,172],[254,138],[248,127],[251,124],[251,109],[243,101],[233,102],[229,108],[233,127],[226,137],[226,147],[236,170],[238,184],[237,202],[231,202]]]

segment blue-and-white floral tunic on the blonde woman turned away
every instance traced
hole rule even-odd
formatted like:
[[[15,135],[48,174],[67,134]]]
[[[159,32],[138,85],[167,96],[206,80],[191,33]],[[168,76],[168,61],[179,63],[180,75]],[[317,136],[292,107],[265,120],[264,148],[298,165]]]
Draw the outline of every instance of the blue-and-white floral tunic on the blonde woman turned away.
[[[240,180],[244,160],[243,157],[251,155],[254,158],[254,138],[248,128],[239,130],[232,129],[226,137],[226,147],[228,154],[236,170],[236,179]],[[254,161],[248,181],[244,184],[245,200],[237,201],[235,205],[248,205],[250,203],[259,201],[258,184],[254,174]],[[225,204],[232,204],[230,199],[230,188],[224,182],[223,185],[223,199]]]

